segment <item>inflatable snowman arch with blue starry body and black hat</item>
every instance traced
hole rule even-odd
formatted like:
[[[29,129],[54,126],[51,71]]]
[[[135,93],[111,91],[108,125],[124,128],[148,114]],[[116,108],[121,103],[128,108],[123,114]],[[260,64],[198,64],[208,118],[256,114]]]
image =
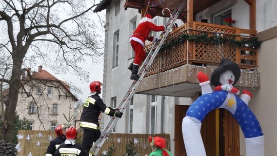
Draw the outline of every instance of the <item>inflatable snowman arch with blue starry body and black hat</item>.
[[[264,155],[264,134],[258,119],[248,107],[252,93],[244,89],[239,96],[239,89],[233,87],[240,76],[241,69],[238,64],[228,59],[221,60],[220,66],[212,72],[211,81],[202,71],[197,73],[202,95],[190,105],[182,123],[188,156],[206,155],[200,132],[201,124],[206,115],[217,108],[228,110],[238,121],[245,136],[246,155]],[[210,82],[216,86],[214,91],[210,87]]]

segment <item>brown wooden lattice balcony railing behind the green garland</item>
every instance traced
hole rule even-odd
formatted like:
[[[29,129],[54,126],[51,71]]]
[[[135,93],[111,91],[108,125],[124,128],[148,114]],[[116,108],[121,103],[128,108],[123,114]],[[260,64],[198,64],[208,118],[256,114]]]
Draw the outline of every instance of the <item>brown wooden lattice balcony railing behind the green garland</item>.
[[[220,36],[225,38],[232,37],[236,41],[243,41],[251,39],[252,36],[256,35],[256,32],[247,29],[193,22],[193,27],[191,29],[188,29],[187,24],[184,24],[170,32],[164,44],[170,45],[169,42],[172,42],[173,39],[181,37],[184,34],[205,34],[208,37],[220,34]],[[160,50],[146,76],[176,68],[184,64],[201,63],[219,65],[222,58],[230,59],[241,68],[250,69],[258,65],[258,49],[254,49],[247,45],[238,47],[230,45],[232,42],[226,42],[224,45],[220,46],[216,43],[193,42],[188,40],[178,43],[177,45],[173,44],[174,46],[170,48]],[[145,46],[145,51],[148,52],[152,46],[153,44]]]

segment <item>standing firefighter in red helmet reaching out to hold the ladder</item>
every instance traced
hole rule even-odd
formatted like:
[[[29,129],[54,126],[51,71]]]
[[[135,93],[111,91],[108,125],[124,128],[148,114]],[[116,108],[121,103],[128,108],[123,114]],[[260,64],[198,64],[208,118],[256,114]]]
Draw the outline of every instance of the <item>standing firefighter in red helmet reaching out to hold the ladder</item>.
[[[89,151],[93,142],[100,138],[101,132],[99,130],[98,116],[100,112],[105,112],[110,116],[117,116],[121,118],[122,112],[117,112],[114,109],[107,107],[101,97],[102,83],[93,81],[90,83],[90,96],[84,104],[83,112],[81,114],[80,127],[84,129],[82,145],[85,150]]]

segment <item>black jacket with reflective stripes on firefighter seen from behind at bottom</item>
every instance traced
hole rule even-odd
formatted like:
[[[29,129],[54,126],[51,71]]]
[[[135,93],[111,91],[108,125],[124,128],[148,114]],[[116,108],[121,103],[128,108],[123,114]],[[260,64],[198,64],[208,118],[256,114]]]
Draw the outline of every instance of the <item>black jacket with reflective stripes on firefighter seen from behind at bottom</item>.
[[[66,140],[62,143],[56,150],[54,156],[89,156],[88,151],[86,151],[81,144],[71,143]]]

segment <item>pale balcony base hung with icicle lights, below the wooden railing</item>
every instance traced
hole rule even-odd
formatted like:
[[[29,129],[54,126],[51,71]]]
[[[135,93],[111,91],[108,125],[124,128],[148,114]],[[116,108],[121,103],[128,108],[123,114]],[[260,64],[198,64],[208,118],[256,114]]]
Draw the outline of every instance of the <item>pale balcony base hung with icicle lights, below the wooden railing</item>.
[[[199,83],[196,82],[196,74],[203,71],[211,76],[216,66],[183,65],[165,72],[145,77],[137,88],[139,94],[155,94],[166,96],[192,97],[196,92],[201,92]],[[258,70],[242,70],[241,79],[235,87],[251,88],[260,87],[260,73]],[[213,86],[212,86],[213,88]],[[240,89],[242,90],[242,89]]]

